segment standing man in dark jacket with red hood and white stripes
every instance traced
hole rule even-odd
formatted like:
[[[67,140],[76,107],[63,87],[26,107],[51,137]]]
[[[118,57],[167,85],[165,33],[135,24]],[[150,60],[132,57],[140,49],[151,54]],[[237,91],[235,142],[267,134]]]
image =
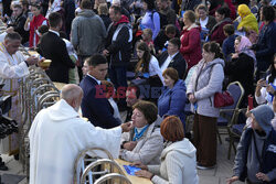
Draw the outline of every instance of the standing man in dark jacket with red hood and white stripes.
[[[110,56],[108,74],[118,90],[118,87],[127,87],[127,65],[131,57],[132,30],[128,18],[121,14],[119,7],[110,7],[109,17],[113,23],[107,30],[107,47],[103,54]],[[124,98],[119,99],[118,107],[119,109],[126,107]]]

